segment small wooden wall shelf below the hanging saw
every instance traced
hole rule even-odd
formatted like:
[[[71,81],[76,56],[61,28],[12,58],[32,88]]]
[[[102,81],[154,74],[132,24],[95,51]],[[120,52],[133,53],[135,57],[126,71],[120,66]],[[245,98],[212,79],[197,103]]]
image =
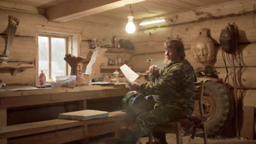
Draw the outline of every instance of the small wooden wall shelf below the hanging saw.
[[[34,68],[34,64],[22,64],[22,63],[0,63],[0,69],[11,69],[12,75],[16,75],[18,70],[26,70],[28,68]]]

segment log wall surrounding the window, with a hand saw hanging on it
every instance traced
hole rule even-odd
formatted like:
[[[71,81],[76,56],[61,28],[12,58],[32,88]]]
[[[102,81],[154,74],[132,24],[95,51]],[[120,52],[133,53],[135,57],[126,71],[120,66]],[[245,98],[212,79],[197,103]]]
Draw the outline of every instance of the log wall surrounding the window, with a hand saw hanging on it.
[[[3,4],[3,3],[0,3]],[[11,3],[4,3],[3,7],[11,7]],[[20,5],[22,6],[22,5]],[[24,5],[23,5],[24,6]],[[22,10],[31,10],[27,7],[19,7]],[[17,9],[19,9],[17,8]],[[11,47],[9,61],[30,62],[34,64],[34,68],[26,69],[22,73],[11,75],[11,70],[1,69],[0,80],[7,85],[7,88],[34,86],[38,85],[37,72],[37,39],[36,33],[38,27],[49,27],[60,29],[63,33],[66,31],[79,32],[82,37],[80,43],[80,56],[90,57],[93,49],[89,49],[89,41],[92,38],[112,39],[113,35],[118,38],[126,38],[125,26],[110,25],[108,23],[96,23],[82,20],[72,20],[68,22],[49,22],[45,16],[34,13],[21,12],[16,10],[7,10],[0,8],[0,53],[2,54],[5,47],[5,39],[7,39],[8,16],[13,15],[20,20],[16,31],[13,45]],[[64,57],[64,56],[63,56]]]

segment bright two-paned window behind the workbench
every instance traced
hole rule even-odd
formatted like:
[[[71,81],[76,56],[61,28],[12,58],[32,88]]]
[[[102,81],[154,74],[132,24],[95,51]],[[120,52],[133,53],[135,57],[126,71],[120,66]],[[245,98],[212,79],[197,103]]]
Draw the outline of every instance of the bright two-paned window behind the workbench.
[[[68,64],[63,59],[68,53],[68,37],[42,35],[38,37],[38,72],[44,71],[46,81],[49,77],[67,75]]]

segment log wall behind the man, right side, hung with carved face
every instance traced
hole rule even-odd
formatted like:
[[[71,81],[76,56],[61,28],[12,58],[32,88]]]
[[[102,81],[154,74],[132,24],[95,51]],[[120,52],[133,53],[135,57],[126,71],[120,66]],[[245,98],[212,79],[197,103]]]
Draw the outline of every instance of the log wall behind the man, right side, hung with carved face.
[[[216,4],[209,7],[167,15],[166,17],[174,17],[173,22],[168,21],[153,26],[143,26],[140,31],[131,38],[136,46],[136,54],[132,56],[130,65],[132,65],[135,71],[148,70],[150,63],[147,63],[147,59],[152,58],[153,62],[163,60],[164,41],[167,37],[175,38],[176,35],[178,35],[184,43],[188,61],[194,68],[203,68],[203,65],[197,63],[191,56],[190,45],[191,41],[197,37],[202,28],[208,28],[211,31],[211,37],[216,44],[217,50],[217,59],[214,67],[218,71],[219,77],[225,79],[226,70],[219,43],[219,36],[220,31],[226,27],[228,22],[235,23],[238,28],[238,46],[241,49],[242,56],[241,81],[243,87],[238,86],[238,88],[242,88],[246,91],[243,104],[256,107],[256,28],[254,26],[256,25],[256,21],[255,14],[253,15],[253,5],[255,4],[256,1],[234,1]],[[228,59],[226,63],[229,73],[232,73],[231,63]],[[236,62],[235,65],[238,66],[238,62]],[[237,75],[238,71],[237,67]],[[233,85],[230,74],[229,83]]]

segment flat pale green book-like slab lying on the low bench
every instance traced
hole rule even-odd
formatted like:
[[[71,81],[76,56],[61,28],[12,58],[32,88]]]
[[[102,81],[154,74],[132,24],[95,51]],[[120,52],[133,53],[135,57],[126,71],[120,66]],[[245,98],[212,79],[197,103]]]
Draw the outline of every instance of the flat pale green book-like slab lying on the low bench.
[[[85,121],[89,119],[108,117],[108,115],[109,113],[107,111],[82,110],[82,111],[60,113],[58,118]]]

